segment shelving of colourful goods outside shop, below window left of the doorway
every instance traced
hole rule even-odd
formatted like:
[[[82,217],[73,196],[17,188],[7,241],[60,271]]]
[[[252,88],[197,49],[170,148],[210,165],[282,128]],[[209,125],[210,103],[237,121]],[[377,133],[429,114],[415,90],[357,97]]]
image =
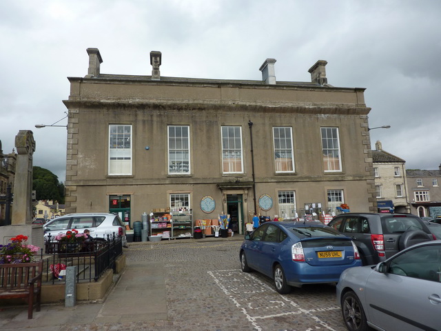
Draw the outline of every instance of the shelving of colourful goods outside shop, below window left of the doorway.
[[[150,213],[150,237],[192,238],[193,232],[192,210],[181,208],[170,211],[170,208],[166,208],[154,209]]]

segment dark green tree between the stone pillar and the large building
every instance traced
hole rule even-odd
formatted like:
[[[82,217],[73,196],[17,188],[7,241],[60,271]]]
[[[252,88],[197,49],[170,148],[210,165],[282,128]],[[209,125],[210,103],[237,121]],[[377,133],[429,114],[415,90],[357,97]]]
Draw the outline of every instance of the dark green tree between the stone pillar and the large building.
[[[64,203],[64,185],[59,182],[57,175],[48,169],[32,168],[32,190],[35,191],[37,200]]]

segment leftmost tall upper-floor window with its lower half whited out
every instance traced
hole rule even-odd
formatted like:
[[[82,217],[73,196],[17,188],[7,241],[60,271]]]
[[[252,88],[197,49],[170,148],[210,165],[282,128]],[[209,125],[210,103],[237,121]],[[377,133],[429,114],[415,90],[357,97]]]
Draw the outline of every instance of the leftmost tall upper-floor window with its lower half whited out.
[[[110,124],[109,170],[110,175],[132,174],[132,126]]]

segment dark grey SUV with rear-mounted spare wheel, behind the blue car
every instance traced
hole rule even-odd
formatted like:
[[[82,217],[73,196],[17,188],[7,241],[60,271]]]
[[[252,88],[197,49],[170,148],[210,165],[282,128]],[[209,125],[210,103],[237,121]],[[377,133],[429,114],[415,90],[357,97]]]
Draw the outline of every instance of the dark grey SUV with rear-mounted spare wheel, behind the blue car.
[[[352,238],[363,265],[379,263],[411,245],[436,239],[412,214],[350,212],[334,217],[328,225]]]

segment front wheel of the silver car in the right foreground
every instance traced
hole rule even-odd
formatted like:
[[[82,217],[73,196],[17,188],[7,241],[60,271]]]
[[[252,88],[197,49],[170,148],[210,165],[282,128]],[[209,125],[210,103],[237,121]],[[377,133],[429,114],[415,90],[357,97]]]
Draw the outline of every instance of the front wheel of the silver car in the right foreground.
[[[365,310],[363,310],[357,295],[352,291],[343,296],[342,316],[349,331],[371,330],[367,325]]]

